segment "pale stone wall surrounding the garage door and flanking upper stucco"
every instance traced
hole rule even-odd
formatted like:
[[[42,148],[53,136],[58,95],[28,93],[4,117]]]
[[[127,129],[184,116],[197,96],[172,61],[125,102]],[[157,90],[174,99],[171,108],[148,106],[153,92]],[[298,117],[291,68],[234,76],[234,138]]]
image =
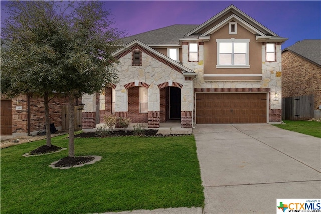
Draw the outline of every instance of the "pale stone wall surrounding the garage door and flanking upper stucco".
[[[269,122],[281,122],[282,108],[282,59],[281,43],[276,43],[276,62],[266,62],[265,43],[262,43],[262,81],[204,81],[203,54],[204,47],[199,45],[199,62],[188,62],[188,42],[183,42],[183,65],[198,73],[194,81],[194,91],[197,89],[269,89]],[[274,101],[277,92],[279,100]],[[193,114],[193,117],[195,112]]]

